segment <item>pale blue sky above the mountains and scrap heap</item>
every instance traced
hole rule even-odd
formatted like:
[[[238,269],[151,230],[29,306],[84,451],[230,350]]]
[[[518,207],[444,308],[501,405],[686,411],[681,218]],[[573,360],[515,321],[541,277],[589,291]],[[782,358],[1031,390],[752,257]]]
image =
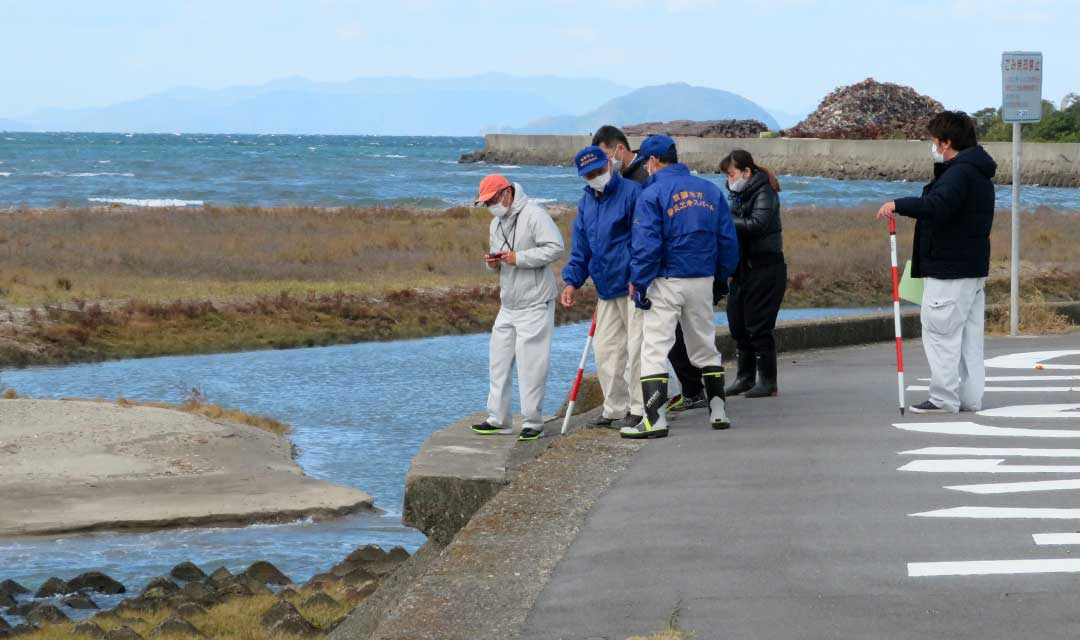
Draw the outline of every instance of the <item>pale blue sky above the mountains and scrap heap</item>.
[[[685,81],[805,111],[866,77],[1000,101],[1002,51],[1080,92],[1078,0],[0,0],[0,117],[180,85],[487,71]],[[593,105],[583,105],[583,110]]]

